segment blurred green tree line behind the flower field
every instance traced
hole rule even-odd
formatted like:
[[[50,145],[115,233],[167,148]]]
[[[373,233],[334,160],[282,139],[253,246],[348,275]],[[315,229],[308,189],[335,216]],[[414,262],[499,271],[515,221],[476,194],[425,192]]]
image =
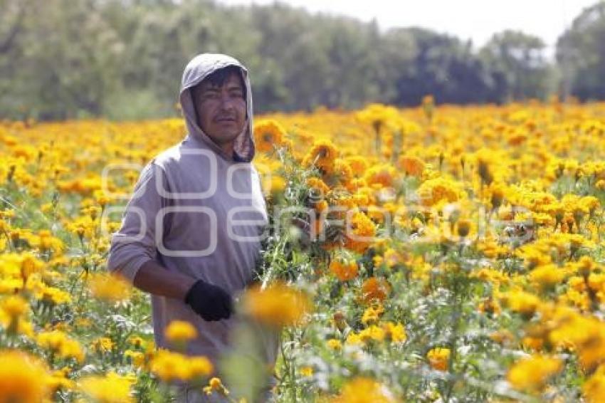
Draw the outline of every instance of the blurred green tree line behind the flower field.
[[[605,3],[585,9],[549,61],[541,38],[485,46],[424,28],[212,0],[0,0],[0,118],[140,119],[176,113],[181,73],[201,52],[251,70],[255,109],[605,99]]]

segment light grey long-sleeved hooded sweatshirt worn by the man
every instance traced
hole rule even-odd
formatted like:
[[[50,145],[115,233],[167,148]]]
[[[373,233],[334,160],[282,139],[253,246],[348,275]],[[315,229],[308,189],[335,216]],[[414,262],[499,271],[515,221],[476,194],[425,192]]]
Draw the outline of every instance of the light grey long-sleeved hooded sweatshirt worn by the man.
[[[246,85],[247,122],[226,155],[196,122],[191,88],[226,66],[238,66]],[[220,286],[237,298],[253,281],[261,236],[268,222],[254,157],[252,93],[248,71],[236,59],[204,53],[187,64],[180,92],[186,122],[184,140],[147,164],[113,234],[107,269],[131,283],[143,263],[154,259],[168,271]],[[186,320],[198,336],[189,355],[213,363],[228,351],[237,315],[206,322],[184,301],[151,295],[154,338],[169,348],[164,329],[172,320]],[[272,366],[278,352],[275,334],[262,332],[261,359]]]

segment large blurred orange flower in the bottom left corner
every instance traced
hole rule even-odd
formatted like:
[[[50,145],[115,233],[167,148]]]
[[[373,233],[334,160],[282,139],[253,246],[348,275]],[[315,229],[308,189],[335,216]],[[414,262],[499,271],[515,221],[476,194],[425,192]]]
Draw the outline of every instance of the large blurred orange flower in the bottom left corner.
[[[50,398],[43,363],[16,350],[0,351],[0,402],[38,403]]]

